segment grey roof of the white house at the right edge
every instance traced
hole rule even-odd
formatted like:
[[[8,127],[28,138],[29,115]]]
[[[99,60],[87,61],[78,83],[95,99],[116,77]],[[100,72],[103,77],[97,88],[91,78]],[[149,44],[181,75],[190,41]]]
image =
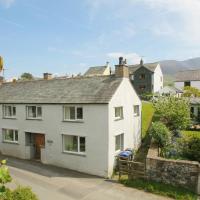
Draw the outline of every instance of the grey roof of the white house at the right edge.
[[[200,81],[200,69],[179,71],[176,74],[175,81]]]

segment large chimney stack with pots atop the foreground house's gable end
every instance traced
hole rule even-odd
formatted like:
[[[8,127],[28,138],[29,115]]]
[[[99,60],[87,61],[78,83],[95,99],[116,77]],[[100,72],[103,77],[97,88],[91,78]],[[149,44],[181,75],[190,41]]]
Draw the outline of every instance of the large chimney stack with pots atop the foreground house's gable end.
[[[118,78],[129,78],[129,69],[126,65],[126,59],[119,57],[119,65],[115,65],[115,76]]]

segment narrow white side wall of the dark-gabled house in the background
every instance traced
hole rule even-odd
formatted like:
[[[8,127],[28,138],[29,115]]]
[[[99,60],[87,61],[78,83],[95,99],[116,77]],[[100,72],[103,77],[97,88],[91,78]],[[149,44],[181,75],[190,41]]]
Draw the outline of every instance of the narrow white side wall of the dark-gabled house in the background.
[[[162,78],[162,80],[161,80]],[[153,74],[153,92],[158,92],[160,89],[163,88],[163,73],[161,70],[160,65],[156,67],[154,74]]]

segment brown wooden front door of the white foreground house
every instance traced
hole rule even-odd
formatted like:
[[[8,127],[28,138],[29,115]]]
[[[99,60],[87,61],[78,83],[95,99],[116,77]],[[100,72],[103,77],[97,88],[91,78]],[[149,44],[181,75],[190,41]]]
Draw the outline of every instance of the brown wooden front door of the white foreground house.
[[[44,134],[35,134],[35,158],[41,159],[41,148],[45,146]]]

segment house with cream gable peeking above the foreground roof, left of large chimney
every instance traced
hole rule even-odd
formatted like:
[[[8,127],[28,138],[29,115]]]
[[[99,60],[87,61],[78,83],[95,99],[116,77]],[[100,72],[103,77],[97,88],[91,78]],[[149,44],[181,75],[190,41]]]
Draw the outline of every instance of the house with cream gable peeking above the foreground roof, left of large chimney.
[[[106,76],[111,74],[111,68],[107,62],[104,66],[90,67],[84,76]]]

